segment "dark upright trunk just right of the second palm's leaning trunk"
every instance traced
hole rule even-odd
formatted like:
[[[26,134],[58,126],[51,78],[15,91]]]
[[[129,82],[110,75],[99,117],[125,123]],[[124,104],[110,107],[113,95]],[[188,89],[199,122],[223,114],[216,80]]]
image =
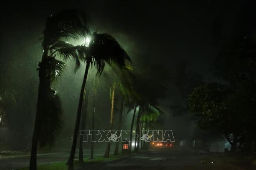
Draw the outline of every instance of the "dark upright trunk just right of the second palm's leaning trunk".
[[[84,109],[82,109],[82,120],[81,120],[81,130],[85,130],[86,125],[86,118],[88,112],[88,101],[89,101],[89,91],[84,91]],[[79,162],[84,162],[84,155],[83,155],[83,135],[84,131],[81,132],[80,141],[79,141]]]

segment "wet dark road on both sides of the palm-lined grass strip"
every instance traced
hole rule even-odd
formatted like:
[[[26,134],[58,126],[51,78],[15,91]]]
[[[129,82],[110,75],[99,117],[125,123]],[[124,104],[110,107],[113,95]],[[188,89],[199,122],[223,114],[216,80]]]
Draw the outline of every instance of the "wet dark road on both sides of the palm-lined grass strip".
[[[105,149],[95,150],[96,155],[103,155]],[[89,157],[89,150],[85,150]],[[97,153],[97,154],[96,154]],[[111,152],[112,153],[112,152]],[[79,170],[254,170],[255,167],[223,164],[219,157],[224,153],[202,153],[184,147],[171,147],[141,151],[137,155],[108,163],[97,163],[93,166],[80,167]],[[67,160],[69,152],[39,154],[38,165]],[[30,156],[1,158],[1,170],[28,167]],[[78,155],[75,156],[78,158]],[[213,160],[215,159],[215,160]]]

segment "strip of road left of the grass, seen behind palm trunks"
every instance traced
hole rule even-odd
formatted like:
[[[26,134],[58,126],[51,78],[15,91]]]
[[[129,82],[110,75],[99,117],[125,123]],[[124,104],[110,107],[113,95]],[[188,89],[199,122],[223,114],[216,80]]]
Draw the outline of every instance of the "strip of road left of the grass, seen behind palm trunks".
[[[78,158],[79,151],[76,151],[75,159]],[[103,155],[104,149],[97,149],[94,155]],[[90,157],[90,150],[84,150],[84,157]],[[62,162],[68,160],[69,152],[37,154],[37,165]],[[12,170],[29,166],[30,155],[14,155],[0,158],[0,170]]]

